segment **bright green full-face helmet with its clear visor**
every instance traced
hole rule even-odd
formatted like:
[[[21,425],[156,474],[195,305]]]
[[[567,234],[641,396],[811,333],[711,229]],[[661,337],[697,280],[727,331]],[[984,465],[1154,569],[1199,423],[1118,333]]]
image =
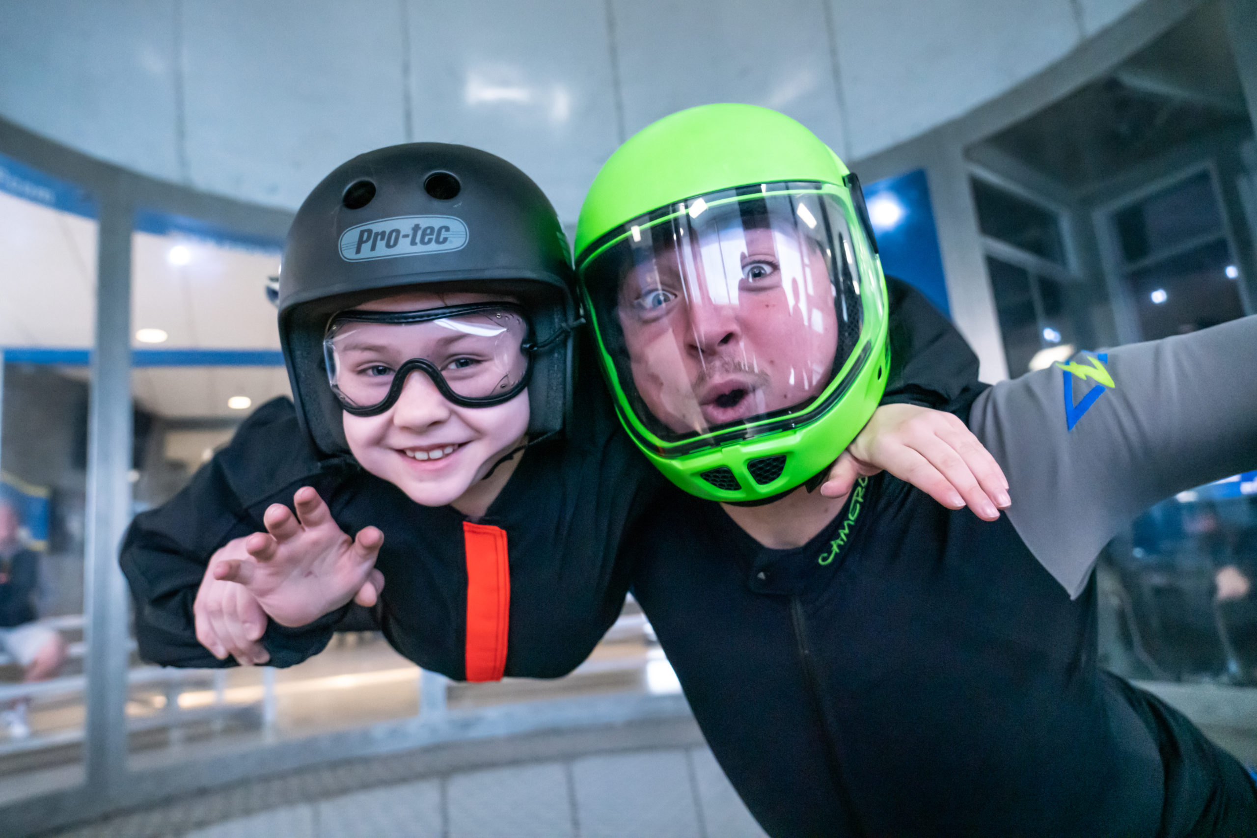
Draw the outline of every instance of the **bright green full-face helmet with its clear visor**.
[[[690,494],[822,472],[886,384],[886,288],[855,175],[798,122],[681,111],[606,162],[577,274],[620,418]]]

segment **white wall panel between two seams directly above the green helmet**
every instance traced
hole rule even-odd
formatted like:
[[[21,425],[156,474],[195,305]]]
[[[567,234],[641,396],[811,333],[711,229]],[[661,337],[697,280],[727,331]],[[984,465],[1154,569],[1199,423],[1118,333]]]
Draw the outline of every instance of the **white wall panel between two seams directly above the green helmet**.
[[[825,9],[816,0],[612,0],[628,133],[681,108],[748,102],[843,153]]]

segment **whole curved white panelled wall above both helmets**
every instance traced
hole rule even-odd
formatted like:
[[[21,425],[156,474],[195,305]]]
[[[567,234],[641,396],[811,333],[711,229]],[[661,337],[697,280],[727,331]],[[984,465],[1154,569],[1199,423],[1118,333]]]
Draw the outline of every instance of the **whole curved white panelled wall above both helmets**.
[[[754,102],[859,158],[1043,69],[1139,0],[0,0],[0,114],[295,209],[348,157],[464,142],[576,219],[622,139]]]

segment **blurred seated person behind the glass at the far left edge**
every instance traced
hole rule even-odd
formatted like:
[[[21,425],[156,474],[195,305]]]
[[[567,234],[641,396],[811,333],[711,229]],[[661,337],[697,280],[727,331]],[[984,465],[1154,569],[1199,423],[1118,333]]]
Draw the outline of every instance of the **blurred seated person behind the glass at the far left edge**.
[[[0,499],[0,651],[23,668],[23,683],[57,676],[65,662],[62,636],[35,621],[39,592],[39,554],[21,540],[21,518],[8,500]],[[30,735],[26,722],[29,699],[19,699],[0,711],[11,739]]]

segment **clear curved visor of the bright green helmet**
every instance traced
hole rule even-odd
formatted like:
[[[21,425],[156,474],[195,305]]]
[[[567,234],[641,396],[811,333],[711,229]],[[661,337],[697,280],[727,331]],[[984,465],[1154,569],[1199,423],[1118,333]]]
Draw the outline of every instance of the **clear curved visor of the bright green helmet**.
[[[676,442],[772,425],[831,389],[861,294],[877,293],[852,215],[817,185],[730,190],[625,225],[587,263],[603,348],[646,430]]]

